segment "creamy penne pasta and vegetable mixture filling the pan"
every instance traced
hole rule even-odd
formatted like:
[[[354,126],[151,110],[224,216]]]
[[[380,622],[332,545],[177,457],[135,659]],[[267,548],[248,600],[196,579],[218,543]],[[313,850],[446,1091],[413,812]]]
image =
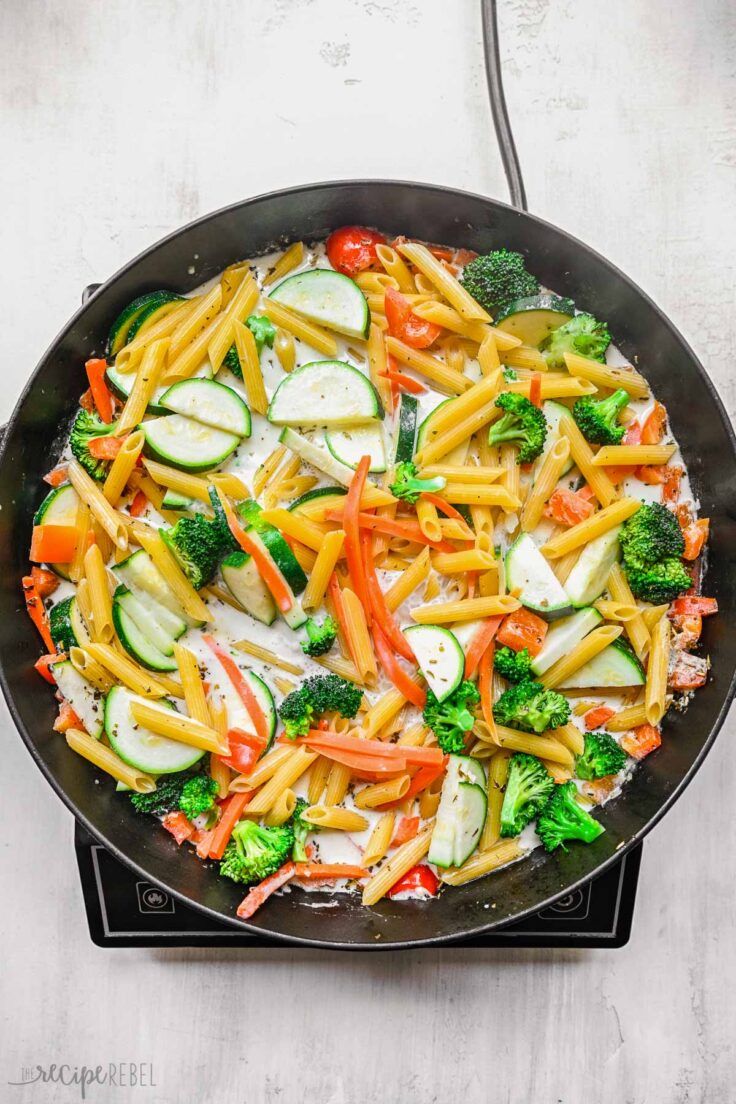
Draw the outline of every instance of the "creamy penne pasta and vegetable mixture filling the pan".
[[[666,412],[527,264],[348,226],[140,296],[86,363],[35,666],[241,917],[589,843],[706,680]]]

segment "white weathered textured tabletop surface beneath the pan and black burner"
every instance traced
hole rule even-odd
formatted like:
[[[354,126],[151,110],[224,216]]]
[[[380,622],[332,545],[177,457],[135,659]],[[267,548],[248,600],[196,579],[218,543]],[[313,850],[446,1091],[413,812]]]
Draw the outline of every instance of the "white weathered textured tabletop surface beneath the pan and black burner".
[[[638,280],[733,411],[733,6],[500,6],[532,210]],[[351,176],[505,198],[478,8],[2,4],[0,416],[85,284],[221,204]],[[78,1098],[75,1089],[7,1086],[23,1065],[117,1060],[152,1061],[157,1089],[92,1089],[89,1100],[735,1098],[733,721],[647,841],[628,947],[381,958],[92,946],[71,818],[4,707],[1,723],[3,1102]]]

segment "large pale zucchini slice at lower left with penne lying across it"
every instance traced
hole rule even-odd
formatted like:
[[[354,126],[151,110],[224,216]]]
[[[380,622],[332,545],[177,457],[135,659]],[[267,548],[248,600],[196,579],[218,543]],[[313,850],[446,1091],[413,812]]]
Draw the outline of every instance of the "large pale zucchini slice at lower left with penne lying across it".
[[[124,763],[145,771],[147,774],[173,774],[186,771],[204,755],[200,747],[191,747],[179,740],[159,736],[142,724],[137,724],[130,712],[132,701],[154,705],[158,709],[173,709],[171,702],[151,702],[131,693],[125,687],[113,687],[105,700],[105,733],[113,751]]]

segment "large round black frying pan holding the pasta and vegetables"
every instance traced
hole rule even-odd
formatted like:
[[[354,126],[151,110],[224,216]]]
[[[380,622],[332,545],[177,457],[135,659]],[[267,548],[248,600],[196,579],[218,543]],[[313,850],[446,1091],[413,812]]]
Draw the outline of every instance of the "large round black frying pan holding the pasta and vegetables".
[[[665,403],[702,513],[712,519],[705,591],[719,616],[704,623],[713,672],[684,714],[670,713],[662,747],[600,813],[606,834],[567,853],[530,859],[429,902],[382,901],[363,909],[337,899],[310,909],[305,894],[274,898],[244,927],[279,940],[344,948],[407,947],[459,938],[519,920],[569,892],[620,858],[684,789],[721,728],[734,693],[736,523],[732,501],[736,440],[721,400],[692,350],[654,304],[593,250],[532,215],[468,192],[395,181],[344,181],[274,192],[225,208],[142,253],[104,284],[53,342],[31,376],[0,449],[0,681],[13,720],[44,775],[77,819],[121,862],[185,904],[237,925],[243,896],[146,817],[52,731],[55,702],[33,670],[35,629],[22,611],[33,510],[58,455],[82,390],[82,365],[102,353],[108,327],[137,295],[161,287],[188,291],[226,265],[297,240],[321,238],[346,223],[486,252],[519,250],[543,284],[607,319],[614,340]],[[56,444],[55,444],[56,443]],[[313,900],[313,896],[311,896]],[[489,905],[491,907],[489,907]]]

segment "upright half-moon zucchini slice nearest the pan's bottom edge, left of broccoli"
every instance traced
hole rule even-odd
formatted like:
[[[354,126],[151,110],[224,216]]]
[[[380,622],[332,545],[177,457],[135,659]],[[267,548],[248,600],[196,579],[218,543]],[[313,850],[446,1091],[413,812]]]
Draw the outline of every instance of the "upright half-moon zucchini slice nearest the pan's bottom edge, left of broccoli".
[[[450,755],[429,843],[429,862],[437,867],[461,866],[478,846],[487,811],[486,773],[480,762],[468,755]]]

